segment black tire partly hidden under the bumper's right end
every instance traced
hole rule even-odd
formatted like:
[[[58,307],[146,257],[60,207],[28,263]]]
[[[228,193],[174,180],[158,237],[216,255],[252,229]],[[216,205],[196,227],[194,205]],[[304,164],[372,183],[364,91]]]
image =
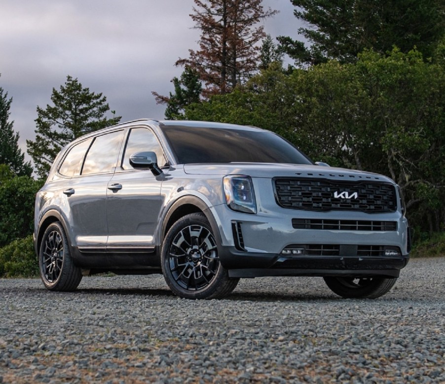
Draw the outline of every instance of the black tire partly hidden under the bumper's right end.
[[[346,299],[376,299],[387,293],[396,283],[397,278],[357,277],[323,278],[328,287],[337,295]]]

